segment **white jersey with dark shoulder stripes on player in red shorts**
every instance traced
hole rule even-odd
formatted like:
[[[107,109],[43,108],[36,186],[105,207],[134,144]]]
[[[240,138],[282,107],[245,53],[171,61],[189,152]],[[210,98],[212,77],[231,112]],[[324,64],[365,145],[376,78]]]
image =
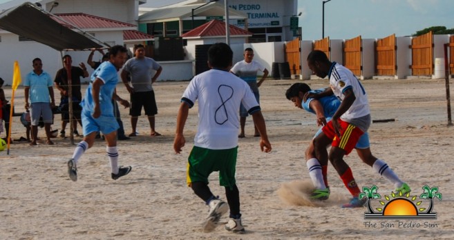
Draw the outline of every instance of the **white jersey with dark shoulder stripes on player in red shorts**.
[[[333,62],[330,71],[328,72],[328,77],[330,77],[332,92],[334,92],[334,95],[336,95],[340,101],[344,99],[343,92],[349,88],[353,90],[354,96],[356,97],[352,106],[342,114],[341,119],[348,121],[349,119],[357,119],[370,114],[368,94],[357,77],[354,77],[353,73],[348,70],[348,68]]]

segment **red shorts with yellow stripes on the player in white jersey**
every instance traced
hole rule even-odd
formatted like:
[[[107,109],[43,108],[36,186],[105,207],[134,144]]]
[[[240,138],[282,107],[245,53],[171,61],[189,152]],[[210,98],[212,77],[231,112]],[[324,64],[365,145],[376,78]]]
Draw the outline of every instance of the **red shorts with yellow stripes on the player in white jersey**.
[[[346,121],[339,119],[341,125],[341,138],[337,137],[332,126],[332,121],[329,121],[321,130],[330,139],[332,139],[331,146],[341,148],[346,151],[346,155],[352,152],[354,146],[357,145],[359,137],[364,133],[357,126],[354,126]]]

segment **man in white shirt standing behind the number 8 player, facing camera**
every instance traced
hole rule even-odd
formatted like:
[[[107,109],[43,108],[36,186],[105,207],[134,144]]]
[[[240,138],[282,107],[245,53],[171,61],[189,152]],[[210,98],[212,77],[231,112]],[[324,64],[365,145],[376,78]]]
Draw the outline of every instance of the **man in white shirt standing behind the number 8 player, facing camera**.
[[[258,61],[254,61],[254,50],[246,48],[244,52],[245,59],[238,61],[231,69],[230,72],[243,79],[251,88],[258,103],[260,103],[260,93],[258,88],[262,85],[263,81],[268,77],[268,70]],[[262,78],[257,82],[257,72],[263,72]],[[241,104],[240,106],[240,134],[238,137],[245,137],[246,118],[249,114],[247,109]],[[260,134],[256,126],[254,126],[254,137],[259,137]]]

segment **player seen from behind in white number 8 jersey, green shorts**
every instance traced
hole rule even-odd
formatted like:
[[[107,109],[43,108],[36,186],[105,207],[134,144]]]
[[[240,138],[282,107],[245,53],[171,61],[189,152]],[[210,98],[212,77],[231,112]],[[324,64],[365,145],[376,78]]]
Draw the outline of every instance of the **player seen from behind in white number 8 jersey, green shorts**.
[[[243,103],[260,133],[260,148],[271,151],[265,120],[254,94],[245,81],[229,72],[233,52],[225,43],[215,43],[208,50],[210,70],[193,77],[182,95],[176,121],[173,149],[176,153],[185,146],[183,128],[189,108],[198,101],[198,128],[194,146],[189,154],[187,184],[209,206],[204,231],[216,228],[220,217],[230,208],[225,229],[245,232],[241,223],[240,193],[236,186],[235,170],[238,152],[238,109]],[[227,203],[216,197],[208,187],[211,172],[219,171],[220,186],[225,187]]]

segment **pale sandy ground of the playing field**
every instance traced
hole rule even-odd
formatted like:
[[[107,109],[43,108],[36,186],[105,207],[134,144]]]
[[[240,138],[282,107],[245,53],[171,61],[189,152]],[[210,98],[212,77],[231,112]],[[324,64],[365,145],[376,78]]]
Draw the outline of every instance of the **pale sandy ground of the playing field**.
[[[437,186],[443,194],[442,201],[435,199],[437,219],[413,220],[366,220],[366,208],[340,208],[349,194],[332,166],[330,199],[305,201],[301,191],[308,188],[309,175],[303,153],[317,127],[314,115],[285,99],[285,90],[295,82],[269,80],[261,87],[272,152],[260,151],[258,138],[252,137],[252,118],[247,119],[247,137],[239,141],[236,178],[246,234],[232,234],[223,226],[202,232],[207,206],[185,183],[197,110],[189,112],[187,145],[182,154],[175,154],[176,114],[187,82],[159,82],[156,130],[163,136],[149,137],[142,116],[140,136],[119,141],[120,164],[133,166],[133,171],[117,181],[110,178],[105,143],[100,140],[80,159],[77,182],[66,172],[75,148],[68,139],[55,139],[55,146],[15,142],[10,155],[0,152],[0,239],[454,239],[454,127],[446,127],[444,80],[363,81],[372,119],[396,119],[372,124],[372,152],[413,188],[412,196],[419,197],[424,185]],[[312,88],[328,86],[326,80],[305,82]],[[119,85],[119,91],[127,98],[124,86]],[[6,96],[10,98],[10,90]],[[17,112],[23,110],[22,88],[15,103]],[[128,112],[121,111],[129,133]],[[19,117],[14,121],[12,138],[25,137]],[[59,116],[56,123],[54,128],[60,128]],[[39,129],[39,136],[44,139],[44,129]],[[390,195],[392,185],[361,163],[356,153],[346,159],[359,186],[378,186],[381,200]],[[217,179],[218,174],[211,175],[211,190],[225,199]],[[420,226],[403,228],[399,221]],[[366,228],[366,222],[377,227]],[[395,226],[381,228],[382,223]],[[437,226],[424,228],[424,223]]]

